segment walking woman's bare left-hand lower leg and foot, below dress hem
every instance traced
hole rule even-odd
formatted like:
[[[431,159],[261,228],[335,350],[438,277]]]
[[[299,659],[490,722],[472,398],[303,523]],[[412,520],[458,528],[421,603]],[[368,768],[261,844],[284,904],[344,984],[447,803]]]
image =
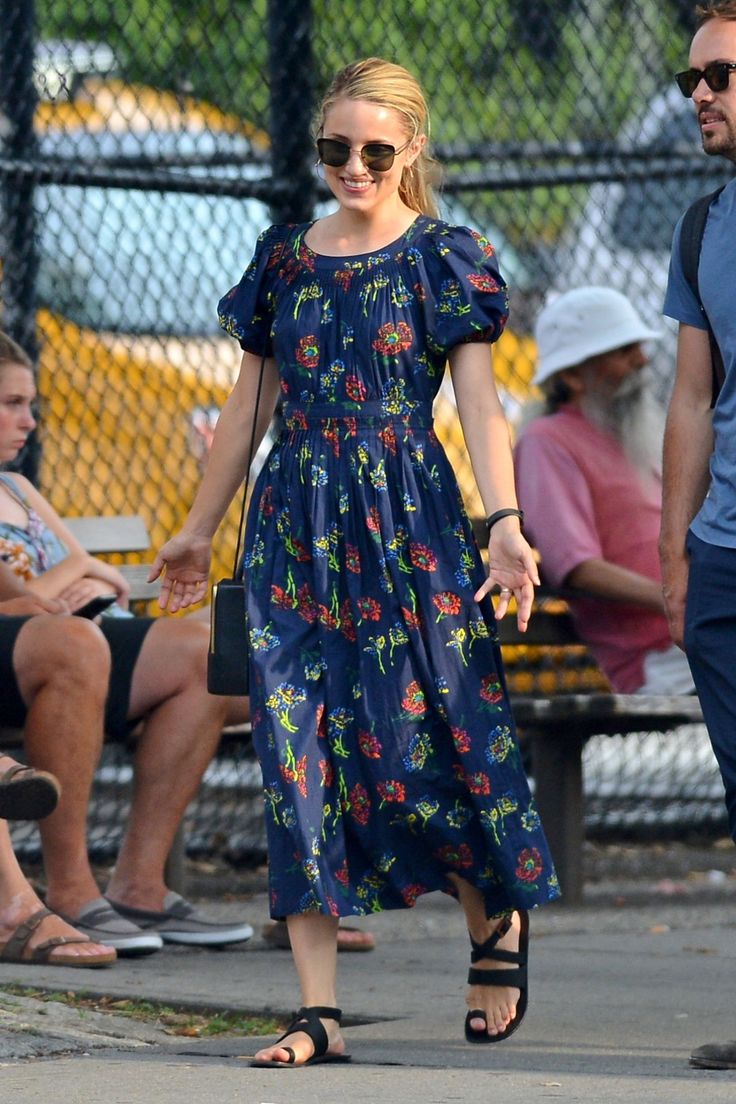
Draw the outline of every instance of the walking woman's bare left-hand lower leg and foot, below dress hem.
[[[301,1002],[334,1008],[337,1002],[338,921],[333,916],[303,913],[287,919],[294,962],[299,975]],[[334,1020],[321,1020],[329,1039],[328,1053],[342,1054],[345,1043]],[[296,1065],[312,1057],[314,1045],[303,1031],[287,1036],[282,1043],[266,1047],[255,1055],[259,1061],[288,1062],[284,1047],[290,1047]]]

